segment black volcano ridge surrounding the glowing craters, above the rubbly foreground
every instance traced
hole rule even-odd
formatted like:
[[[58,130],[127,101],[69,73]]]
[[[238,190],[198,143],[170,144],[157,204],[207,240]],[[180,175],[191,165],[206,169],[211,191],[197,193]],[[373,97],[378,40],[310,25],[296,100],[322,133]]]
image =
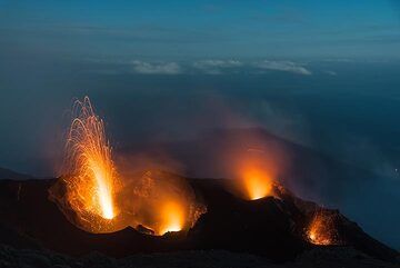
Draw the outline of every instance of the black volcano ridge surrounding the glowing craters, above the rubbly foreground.
[[[340,250],[342,246],[318,247],[304,239],[303,230],[318,208],[281,187],[278,198],[247,201],[231,195],[222,180],[191,179],[208,207],[188,232],[153,237],[132,228],[94,235],[78,229],[48,200],[53,180],[0,181],[0,244],[17,248],[53,250],[72,256],[99,251],[111,257],[178,250],[229,250],[290,261],[308,250]],[[396,262],[399,254],[374,240],[339,211],[337,226],[347,247],[363,255]]]

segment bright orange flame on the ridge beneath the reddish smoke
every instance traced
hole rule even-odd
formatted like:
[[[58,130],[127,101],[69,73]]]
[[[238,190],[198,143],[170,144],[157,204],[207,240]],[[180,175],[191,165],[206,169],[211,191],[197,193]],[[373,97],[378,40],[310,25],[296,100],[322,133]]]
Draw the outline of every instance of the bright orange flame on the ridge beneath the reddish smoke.
[[[257,167],[247,167],[243,170],[242,183],[250,200],[267,197],[272,191],[272,180],[269,175]]]

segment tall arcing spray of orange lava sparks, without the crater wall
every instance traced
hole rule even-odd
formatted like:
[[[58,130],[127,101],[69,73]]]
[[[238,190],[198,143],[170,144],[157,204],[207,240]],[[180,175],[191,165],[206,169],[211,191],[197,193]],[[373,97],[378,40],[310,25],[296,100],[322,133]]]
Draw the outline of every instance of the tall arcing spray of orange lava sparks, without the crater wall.
[[[104,123],[96,116],[88,97],[76,102],[73,112],[78,116],[71,123],[66,157],[67,172],[71,175],[68,199],[78,211],[112,219],[117,179]]]

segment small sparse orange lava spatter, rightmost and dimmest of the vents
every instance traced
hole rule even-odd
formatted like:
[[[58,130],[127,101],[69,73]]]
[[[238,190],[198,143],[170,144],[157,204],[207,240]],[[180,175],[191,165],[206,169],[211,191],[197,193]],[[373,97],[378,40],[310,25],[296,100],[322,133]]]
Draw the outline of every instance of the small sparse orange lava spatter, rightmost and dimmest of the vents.
[[[333,216],[317,212],[307,230],[310,242],[321,246],[339,245],[333,220]]]

